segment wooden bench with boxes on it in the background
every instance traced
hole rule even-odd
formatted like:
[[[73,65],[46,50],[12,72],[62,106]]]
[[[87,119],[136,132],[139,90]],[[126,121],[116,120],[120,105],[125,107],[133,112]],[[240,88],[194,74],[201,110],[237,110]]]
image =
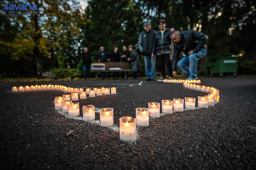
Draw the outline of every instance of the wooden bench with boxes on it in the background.
[[[105,70],[90,70],[90,72],[96,73],[96,79],[98,78],[98,73],[100,72],[131,72],[130,64],[128,62],[92,62],[91,65],[105,64]],[[113,67],[120,67],[121,70],[110,70]],[[127,74],[125,74],[127,78]]]

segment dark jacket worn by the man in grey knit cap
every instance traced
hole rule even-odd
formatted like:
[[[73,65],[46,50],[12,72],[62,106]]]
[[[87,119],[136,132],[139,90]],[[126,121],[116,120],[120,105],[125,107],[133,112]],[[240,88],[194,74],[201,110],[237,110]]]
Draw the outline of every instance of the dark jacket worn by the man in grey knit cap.
[[[155,40],[155,30],[150,30],[148,32],[142,31],[139,34],[139,42],[138,42],[138,47],[139,51],[143,55],[151,55],[153,51],[153,44]]]

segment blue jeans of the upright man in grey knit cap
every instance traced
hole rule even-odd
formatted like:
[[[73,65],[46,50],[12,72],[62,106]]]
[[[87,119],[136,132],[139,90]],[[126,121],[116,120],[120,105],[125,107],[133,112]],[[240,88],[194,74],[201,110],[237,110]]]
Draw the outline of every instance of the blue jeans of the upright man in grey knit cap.
[[[156,56],[144,55],[145,74],[147,78],[155,78],[156,76]]]

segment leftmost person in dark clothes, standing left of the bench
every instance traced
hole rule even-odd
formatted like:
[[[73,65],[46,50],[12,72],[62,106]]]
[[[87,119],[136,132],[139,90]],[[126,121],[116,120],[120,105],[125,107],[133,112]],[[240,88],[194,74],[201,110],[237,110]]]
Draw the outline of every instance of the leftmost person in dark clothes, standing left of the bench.
[[[90,78],[90,66],[91,66],[91,55],[87,47],[84,47],[82,53],[82,62],[83,62],[83,75],[84,79],[89,80]]]

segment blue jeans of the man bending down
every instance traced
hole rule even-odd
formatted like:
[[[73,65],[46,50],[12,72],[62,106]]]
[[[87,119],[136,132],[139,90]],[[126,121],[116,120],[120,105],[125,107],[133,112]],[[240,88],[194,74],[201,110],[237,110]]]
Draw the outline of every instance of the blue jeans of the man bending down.
[[[177,66],[181,69],[183,73],[185,73],[190,78],[197,77],[197,65],[198,61],[202,59],[207,54],[207,50],[201,49],[196,53],[185,55],[182,59],[177,63]],[[189,65],[189,67],[188,67]]]

